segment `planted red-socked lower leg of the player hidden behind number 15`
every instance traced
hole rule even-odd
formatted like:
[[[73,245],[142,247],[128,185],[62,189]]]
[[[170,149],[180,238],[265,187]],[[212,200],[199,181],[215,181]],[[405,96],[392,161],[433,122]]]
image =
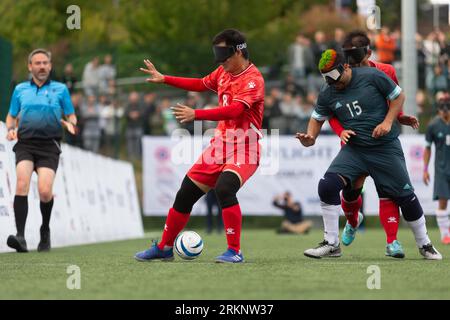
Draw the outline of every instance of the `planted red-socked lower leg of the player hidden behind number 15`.
[[[404,258],[403,247],[397,240],[400,210],[399,206],[391,199],[380,198],[380,222],[386,233],[386,256]]]

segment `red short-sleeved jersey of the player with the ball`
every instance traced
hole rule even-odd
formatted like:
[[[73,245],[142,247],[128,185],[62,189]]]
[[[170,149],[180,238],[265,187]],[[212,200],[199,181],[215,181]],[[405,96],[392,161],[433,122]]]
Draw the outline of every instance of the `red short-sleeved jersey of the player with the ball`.
[[[219,107],[229,106],[233,101],[238,101],[246,106],[246,109],[239,119],[219,121],[216,128],[215,137],[225,142],[227,130],[254,130],[259,137],[264,113],[264,78],[254,64],[250,64],[247,69],[237,75],[226,72],[219,66],[212,73],[204,77],[203,84],[210,90],[217,93],[219,97]]]

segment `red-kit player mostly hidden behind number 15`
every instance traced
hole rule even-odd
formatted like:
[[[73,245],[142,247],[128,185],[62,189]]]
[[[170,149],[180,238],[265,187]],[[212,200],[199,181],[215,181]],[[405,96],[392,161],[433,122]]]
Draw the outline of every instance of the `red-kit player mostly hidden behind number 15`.
[[[343,52],[352,67],[374,67],[383,71],[389,78],[398,84],[397,75],[392,65],[370,61],[372,54],[370,50],[370,40],[366,33],[362,31],[350,32],[343,43]],[[397,120],[402,125],[408,125],[417,129],[419,122],[417,118],[408,116],[400,112]],[[330,126],[334,132],[341,138],[342,143],[347,143],[355,132],[344,130],[339,121],[334,117],[330,119]],[[354,182],[353,189],[344,188],[342,192],[341,204],[347,224],[342,233],[342,242],[344,245],[350,245],[355,238],[355,233],[362,222],[362,214],[359,213],[362,206],[361,191],[366,177],[362,176]],[[404,252],[400,242],[397,240],[399,226],[399,207],[388,197],[379,194],[380,197],[380,221],[386,232],[386,255],[394,258],[403,258]]]

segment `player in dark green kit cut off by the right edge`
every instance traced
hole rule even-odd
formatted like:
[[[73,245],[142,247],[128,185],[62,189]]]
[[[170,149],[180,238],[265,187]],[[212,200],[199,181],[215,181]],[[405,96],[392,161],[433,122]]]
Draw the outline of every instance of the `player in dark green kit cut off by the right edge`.
[[[436,220],[441,232],[443,244],[450,244],[450,226],[447,203],[450,199],[450,96],[438,101],[438,116],[428,125],[425,135],[427,146],[423,154],[423,181],[430,182],[428,164],[431,157],[431,145],[434,143],[436,154],[434,161],[433,199],[438,200]]]

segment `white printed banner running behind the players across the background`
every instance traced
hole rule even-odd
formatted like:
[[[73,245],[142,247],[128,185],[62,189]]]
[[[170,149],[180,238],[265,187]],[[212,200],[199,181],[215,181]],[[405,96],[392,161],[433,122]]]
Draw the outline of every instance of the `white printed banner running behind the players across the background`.
[[[400,141],[406,158],[411,182],[422,203],[424,211],[433,213],[436,203],[432,201],[431,186],[422,182],[423,135],[401,135]],[[144,213],[148,216],[166,215],[172,206],[176,192],[184,175],[202,152],[209,139],[144,137]],[[261,140],[263,155],[261,165],[238,193],[244,215],[280,215],[272,206],[273,197],[284,191],[291,191],[299,200],[306,215],[320,214],[317,184],[329,164],[339,152],[336,136],[320,136],[316,145],[304,148],[291,136],[268,136]],[[433,150],[434,155],[434,150]],[[182,159],[184,158],[184,159]],[[430,161],[433,177],[434,157]],[[369,215],[378,214],[378,196],[371,178],[364,186],[364,209]],[[193,214],[205,214],[206,205],[200,200]]]

